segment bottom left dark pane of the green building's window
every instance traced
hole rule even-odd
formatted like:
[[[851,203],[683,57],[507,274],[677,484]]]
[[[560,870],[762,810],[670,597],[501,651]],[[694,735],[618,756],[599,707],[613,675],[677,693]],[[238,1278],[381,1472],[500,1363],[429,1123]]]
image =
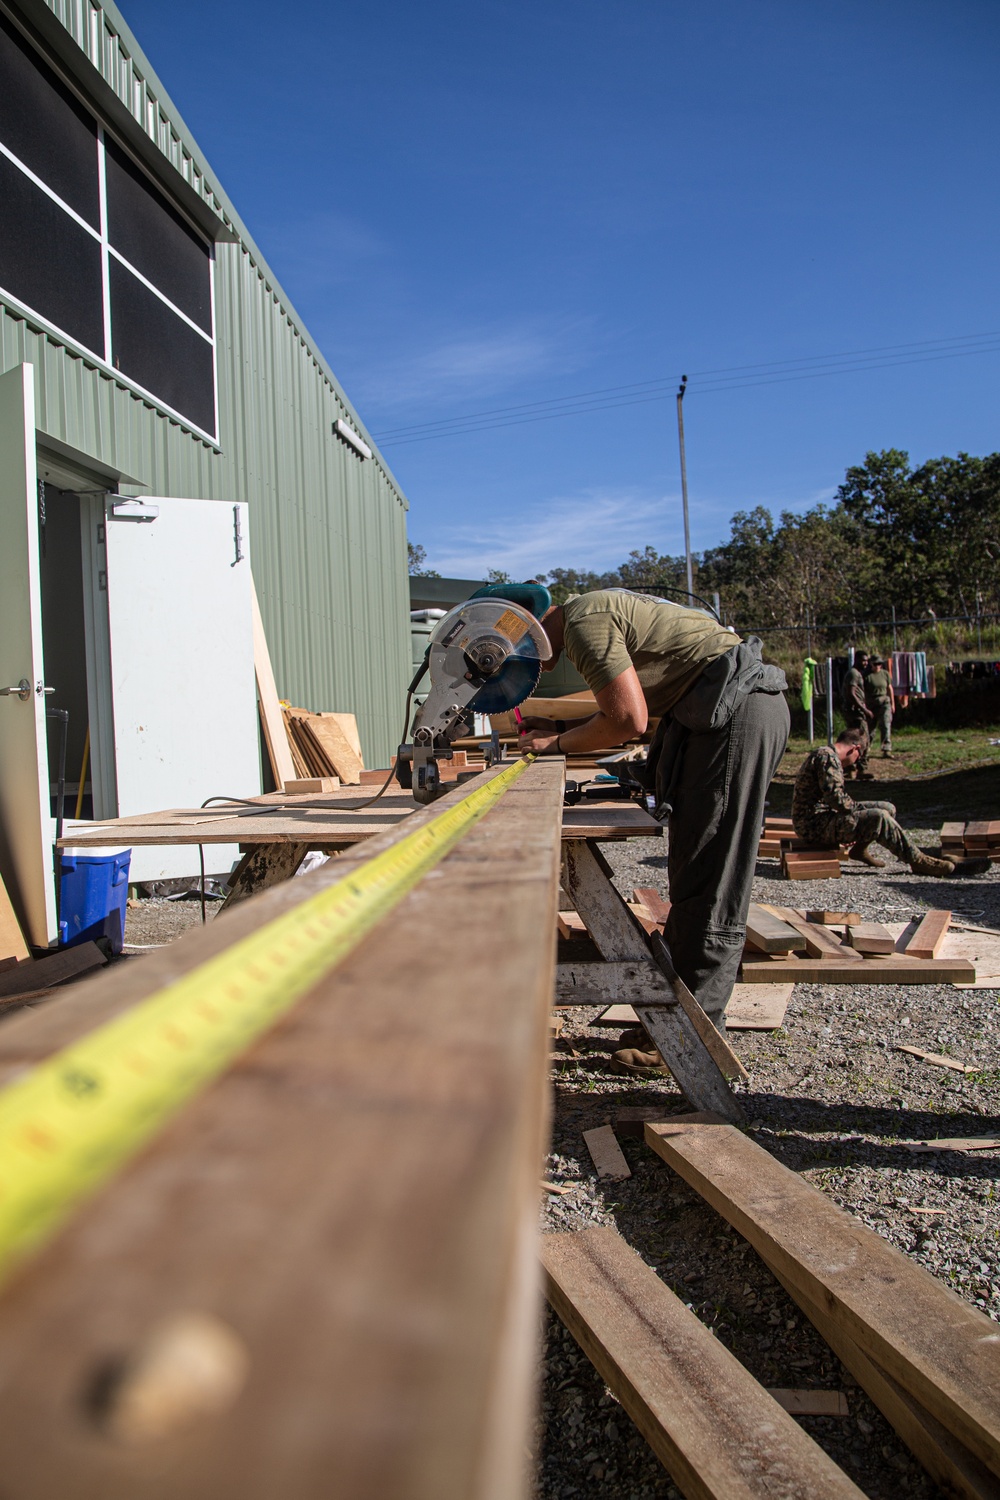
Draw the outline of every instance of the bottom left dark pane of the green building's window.
[[[103,358],[100,246],[0,156],[0,286]]]

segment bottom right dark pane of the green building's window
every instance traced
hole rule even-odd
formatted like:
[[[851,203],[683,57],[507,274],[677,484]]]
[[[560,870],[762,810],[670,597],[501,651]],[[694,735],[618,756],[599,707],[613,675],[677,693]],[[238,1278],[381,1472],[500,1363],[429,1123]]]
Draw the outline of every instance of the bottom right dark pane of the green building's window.
[[[213,348],[114,256],[112,364],[208,434],[216,430]]]

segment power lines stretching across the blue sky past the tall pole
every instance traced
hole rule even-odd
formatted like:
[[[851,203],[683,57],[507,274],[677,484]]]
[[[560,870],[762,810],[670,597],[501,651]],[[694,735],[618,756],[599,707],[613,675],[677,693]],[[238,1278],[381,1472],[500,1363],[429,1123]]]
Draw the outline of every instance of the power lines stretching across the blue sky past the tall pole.
[[[774,386],[796,380],[819,380],[831,375],[849,375],[870,369],[894,369],[904,364],[922,364],[943,358],[960,358],[972,354],[994,354],[1000,351],[1000,332],[957,334],[949,339],[922,339],[915,344],[883,345],[873,350],[828,356],[802,356],[795,360],[771,360],[757,364],[735,364],[715,370],[696,372],[690,380],[699,393],[745,390],[753,386]],[[976,345],[976,346],[955,346]],[[895,351],[913,352],[907,358],[886,358]],[[850,363],[847,363],[850,362]],[[796,368],[799,366],[799,368]],[[751,372],[757,374],[751,374]],[[750,375],[748,380],[729,376]],[[490,432],[496,428],[522,426],[525,423],[552,422],[556,417],[580,416],[592,411],[609,411],[618,406],[645,405],[664,400],[679,376],[661,376],[637,381],[631,386],[607,386],[574,396],[558,396],[549,400],[525,402],[516,406],[496,406],[487,411],[469,412],[465,417],[447,417],[438,422],[417,423],[409,428],[393,428],[376,435],[382,447],[402,447],[409,442],[429,442],[433,438],[460,436],[463,434]],[[645,394],[640,394],[645,392]],[[634,394],[630,394],[634,393]],[[616,398],[609,400],[607,398]],[[598,399],[604,398],[604,399]],[[490,420],[492,418],[492,420]]]

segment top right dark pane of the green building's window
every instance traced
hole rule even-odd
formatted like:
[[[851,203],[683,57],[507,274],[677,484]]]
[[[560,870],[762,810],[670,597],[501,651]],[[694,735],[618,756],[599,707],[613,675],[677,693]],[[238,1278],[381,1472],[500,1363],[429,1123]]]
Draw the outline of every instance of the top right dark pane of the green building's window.
[[[120,146],[106,140],[108,240],[165,297],[211,333],[208,246]]]

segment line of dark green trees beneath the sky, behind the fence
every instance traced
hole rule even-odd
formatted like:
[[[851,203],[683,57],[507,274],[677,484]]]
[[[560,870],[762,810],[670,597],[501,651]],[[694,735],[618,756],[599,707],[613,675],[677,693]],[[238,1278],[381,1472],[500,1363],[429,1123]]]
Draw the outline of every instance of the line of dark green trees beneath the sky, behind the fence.
[[[417,549],[423,552],[423,549]],[[411,572],[423,570],[423,556]],[[775,520],[739,510],[730,537],[696,554],[694,591],[736,628],[1000,614],[1000,453],[930,459],[883,448],[849,468],[832,504]],[[496,570],[498,582],[507,579]],[[685,588],[684,556],[646,546],[616,568],[537,574],[556,602],[595,588]]]

